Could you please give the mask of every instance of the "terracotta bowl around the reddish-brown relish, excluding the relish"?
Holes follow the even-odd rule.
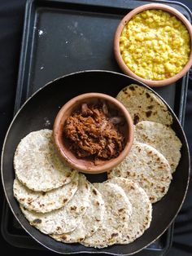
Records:
[[[97,104],[98,100],[105,101],[109,112],[110,110],[116,110],[117,116],[120,115],[121,117],[124,117],[124,126],[121,126],[120,132],[124,135],[125,146],[118,157],[106,161],[97,161],[97,165],[95,165],[93,160],[77,158],[69,149],[68,140],[63,137],[63,126],[66,119],[70,117],[74,111],[80,109],[83,103],[88,105]],[[120,161],[123,161],[124,157],[128,155],[133,143],[133,121],[127,109],[124,108],[124,105],[117,99],[100,93],[87,93],[76,96],[63,105],[55,118],[53,134],[56,148],[64,161],[67,161],[72,168],[81,170],[81,172],[98,174],[111,170],[111,168],[117,166]]]

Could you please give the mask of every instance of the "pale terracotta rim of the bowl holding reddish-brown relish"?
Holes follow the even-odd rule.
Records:
[[[110,101],[111,104],[114,104],[116,108],[119,108],[121,113],[123,113],[124,118],[126,120],[126,123],[129,127],[129,134],[128,134],[128,139],[125,143],[124,149],[122,152],[120,152],[120,155],[116,158],[112,158],[111,161],[106,161],[102,166],[85,166],[82,168],[81,166],[83,165],[77,165],[70,157],[68,157],[68,154],[63,151],[62,144],[59,142],[59,138],[61,136],[61,131],[59,131],[61,126],[61,121],[63,119],[63,116],[65,114],[65,111],[72,107],[72,105],[78,105],[81,104],[81,101],[85,99],[105,99],[106,101]],[[111,95],[106,95],[103,93],[98,93],[98,92],[90,92],[90,93],[85,93],[81,95],[77,95],[76,97],[70,99],[66,104],[63,105],[62,108],[60,108],[59,113],[57,113],[54,121],[54,126],[53,126],[53,138],[55,142],[55,146],[57,148],[57,151],[59,152],[60,157],[62,157],[65,161],[68,162],[72,168],[75,168],[76,170],[80,170],[83,173],[86,174],[99,174],[106,172],[107,170],[111,170],[118,164],[120,164],[121,161],[124,160],[124,158],[128,155],[129,150],[132,147],[133,144],[133,137],[134,137],[134,126],[133,126],[133,120],[132,117],[129,114],[129,111],[124,107],[123,104],[120,103],[119,100],[116,98],[112,97]]]

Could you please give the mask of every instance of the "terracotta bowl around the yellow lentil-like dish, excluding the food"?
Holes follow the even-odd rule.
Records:
[[[192,26],[191,26],[189,20],[187,20],[185,18],[185,16],[181,14],[180,11],[177,11],[176,9],[174,9],[172,7],[169,7],[164,4],[159,4],[159,3],[151,3],[151,4],[146,4],[141,7],[135,8],[133,11],[130,11],[128,15],[125,15],[124,19],[120,21],[120,24],[116,29],[116,34],[115,34],[115,38],[114,38],[115,57],[116,57],[117,63],[119,64],[120,68],[122,69],[122,71],[124,73],[128,74],[130,77],[136,78],[137,80],[144,82],[146,85],[151,86],[151,87],[167,86],[167,85],[172,84],[173,82],[176,82],[177,80],[179,80],[190,69],[190,66],[192,65],[192,51],[190,51],[189,61],[187,62],[187,64],[185,64],[185,67],[181,70],[181,72],[177,73],[173,77],[166,78],[164,80],[159,80],[159,81],[146,80],[142,77],[138,77],[135,73],[133,73],[133,71],[131,71],[129,69],[129,67],[127,67],[126,64],[124,64],[124,60],[122,59],[122,57],[120,55],[120,35],[122,33],[122,30],[124,29],[124,25],[127,24],[129,22],[129,20],[131,20],[133,18],[133,16],[136,15],[137,13],[145,11],[145,10],[149,10],[149,9],[160,9],[163,11],[167,11],[167,12],[171,13],[172,15],[175,15],[178,18],[178,20],[181,20],[181,22],[183,24],[185,24],[185,27],[186,27],[186,29],[188,29],[188,32],[190,34],[190,48],[192,49]]]

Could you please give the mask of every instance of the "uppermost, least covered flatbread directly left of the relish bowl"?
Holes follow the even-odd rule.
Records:
[[[70,183],[76,174],[60,160],[52,130],[37,130],[21,139],[15,151],[15,174],[33,191],[49,191]]]

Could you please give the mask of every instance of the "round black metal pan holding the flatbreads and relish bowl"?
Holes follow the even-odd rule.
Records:
[[[42,89],[38,90],[26,103],[20,108],[11,126],[7,131],[7,136],[2,149],[2,184],[7,196],[8,204],[11,207],[15,218],[19,221],[24,230],[28,232],[37,242],[60,254],[75,253],[106,253],[113,255],[129,255],[145,248],[155,241],[172,223],[181,205],[185,199],[186,190],[189,183],[190,173],[190,155],[184,131],[172,112],[173,125],[172,129],[176,131],[177,136],[181,139],[181,161],[173,174],[172,183],[168,194],[153,205],[153,218],[151,227],[136,241],[129,245],[112,245],[105,249],[86,248],[79,244],[63,244],[57,242],[39,232],[35,227],[29,225],[28,221],[20,211],[19,204],[15,200],[12,192],[15,172],[13,169],[13,157],[15,148],[20,139],[24,138],[33,130],[52,128],[55,115],[59,108],[69,99],[85,92],[103,92],[108,95],[116,94],[124,87],[131,83],[145,86],[131,77],[120,73],[107,71],[87,71],[72,73],[60,77],[54,82],[50,82]],[[147,86],[146,86],[147,87]],[[151,90],[149,87],[147,87]],[[153,91],[153,90],[152,90]],[[155,91],[153,91],[155,93]],[[155,93],[156,94],[156,93]],[[50,125],[49,125],[50,123]],[[106,174],[87,175],[91,182],[102,182],[107,179]]]

